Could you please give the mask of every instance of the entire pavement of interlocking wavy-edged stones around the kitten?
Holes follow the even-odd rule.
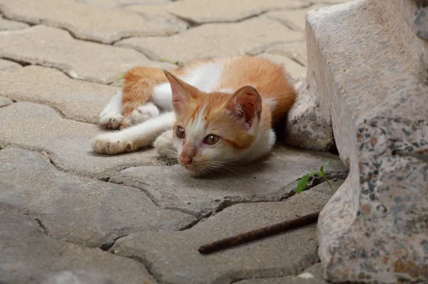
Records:
[[[133,66],[245,52],[305,76],[305,13],[333,0],[0,0],[0,283],[324,283],[316,225],[213,255],[219,238],[320,211],[339,156],[278,145],[190,178],[153,149],[91,151]]]

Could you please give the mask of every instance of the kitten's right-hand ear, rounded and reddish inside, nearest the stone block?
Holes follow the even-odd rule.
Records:
[[[250,128],[253,126],[255,118],[260,119],[262,98],[255,88],[245,86],[235,91],[228,101],[227,108],[233,116],[238,118],[239,121],[243,121],[245,126]]]

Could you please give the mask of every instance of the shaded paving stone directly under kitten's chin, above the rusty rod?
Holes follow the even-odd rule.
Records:
[[[325,161],[331,161],[327,171],[332,176],[346,177],[338,156],[278,146],[264,161],[235,168],[236,173],[228,176],[193,178],[179,165],[141,166],[115,173],[111,181],[147,191],[161,207],[204,215],[230,203],[275,201],[287,196],[298,178]]]

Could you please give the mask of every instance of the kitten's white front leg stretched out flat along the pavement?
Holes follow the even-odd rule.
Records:
[[[96,153],[109,155],[133,152],[138,148],[151,146],[161,133],[173,128],[174,123],[173,112],[163,113],[122,131],[98,135],[92,141],[92,148]]]

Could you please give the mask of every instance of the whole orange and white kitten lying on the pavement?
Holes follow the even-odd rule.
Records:
[[[198,61],[183,69],[136,67],[124,76],[100,115],[106,128],[93,139],[97,153],[154,146],[204,173],[264,156],[275,143],[272,125],[295,102],[284,68],[257,56]],[[128,127],[131,126],[131,127]]]

